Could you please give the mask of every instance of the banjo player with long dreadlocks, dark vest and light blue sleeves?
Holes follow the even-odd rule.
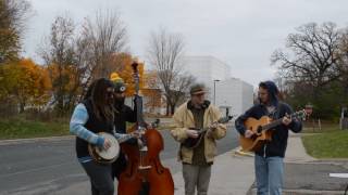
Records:
[[[76,135],[77,158],[89,177],[91,194],[113,195],[111,165],[95,161],[88,153],[88,144],[96,144],[104,150],[111,146],[110,141],[98,135],[98,132],[109,132],[116,139],[125,136],[114,129],[114,84],[108,79],[98,79],[88,89],[87,95],[74,109],[70,131]]]

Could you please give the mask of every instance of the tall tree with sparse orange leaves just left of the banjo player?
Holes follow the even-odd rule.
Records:
[[[51,26],[47,46],[40,49],[40,55],[49,69],[52,82],[52,104],[59,115],[70,112],[74,105],[77,87],[70,86],[76,77],[75,25],[69,17],[58,16]],[[72,77],[73,76],[73,77]],[[75,83],[76,86],[78,84]],[[73,90],[73,92],[71,91]]]

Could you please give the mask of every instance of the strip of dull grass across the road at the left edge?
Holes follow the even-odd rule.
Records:
[[[21,117],[0,120],[0,140],[67,135],[69,122],[42,122]]]

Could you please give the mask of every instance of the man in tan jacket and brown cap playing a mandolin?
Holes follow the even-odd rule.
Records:
[[[203,134],[204,138],[197,147],[188,148],[181,144],[178,159],[183,162],[186,195],[194,195],[196,188],[198,195],[208,194],[211,166],[216,155],[215,140],[226,135],[224,125],[211,125],[220,118],[219,109],[206,100],[206,87],[199,83],[190,88],[190,100],[174,113],[175,128],[171,134],[181,143],[187,138],[198,138],[197,130],[189,128],[201,129],[211,126],[211,131]]]

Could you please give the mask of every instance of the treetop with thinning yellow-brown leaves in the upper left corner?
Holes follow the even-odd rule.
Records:
[[[0,0],[0,63],[18,58],[25,22],[32,13],[26,0]]]

